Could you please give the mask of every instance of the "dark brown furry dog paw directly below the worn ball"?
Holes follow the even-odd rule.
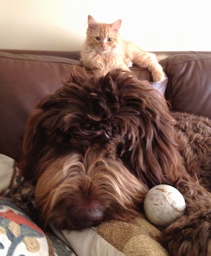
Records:
[[[171,256],[211,255],[210,216],[183,216],[161,232],[161,244]]]

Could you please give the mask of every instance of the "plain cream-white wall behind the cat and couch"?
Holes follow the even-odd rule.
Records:
[[[0,0],[0,49],[80,50],[88,14],[144,50],[211,51],[209,1]]]

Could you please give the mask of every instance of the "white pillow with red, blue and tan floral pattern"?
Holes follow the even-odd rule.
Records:
[[[49,255],[43,231],[8,198],[0,198],[0,224],[1,255]]]

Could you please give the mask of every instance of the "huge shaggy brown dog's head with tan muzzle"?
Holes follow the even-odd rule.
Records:
[[[151,186],[178,179],[173,122],[146,81],[73,67],[29,119],[19,162],[43,222],[80,229],[136,216]]]

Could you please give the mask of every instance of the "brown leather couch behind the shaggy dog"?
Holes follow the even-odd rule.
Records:
[[[211,119],[211,51],[165,54],[168,58],[160,64],[167,79],[155,86],[170,109]],[[20,158],[26,120],[35,103],[69,79],[70,67],[79,64],[78,59],[79,52],[0,51],[0,154]],[[145,68],[131,70],[138,79],[152,81]]]

